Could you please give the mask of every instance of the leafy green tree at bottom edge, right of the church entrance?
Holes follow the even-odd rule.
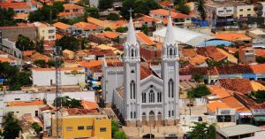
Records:
[[[207,122],[194,122],[191,131],[187,132],[188,137],[192,139],[216,139],[216,127]]]

